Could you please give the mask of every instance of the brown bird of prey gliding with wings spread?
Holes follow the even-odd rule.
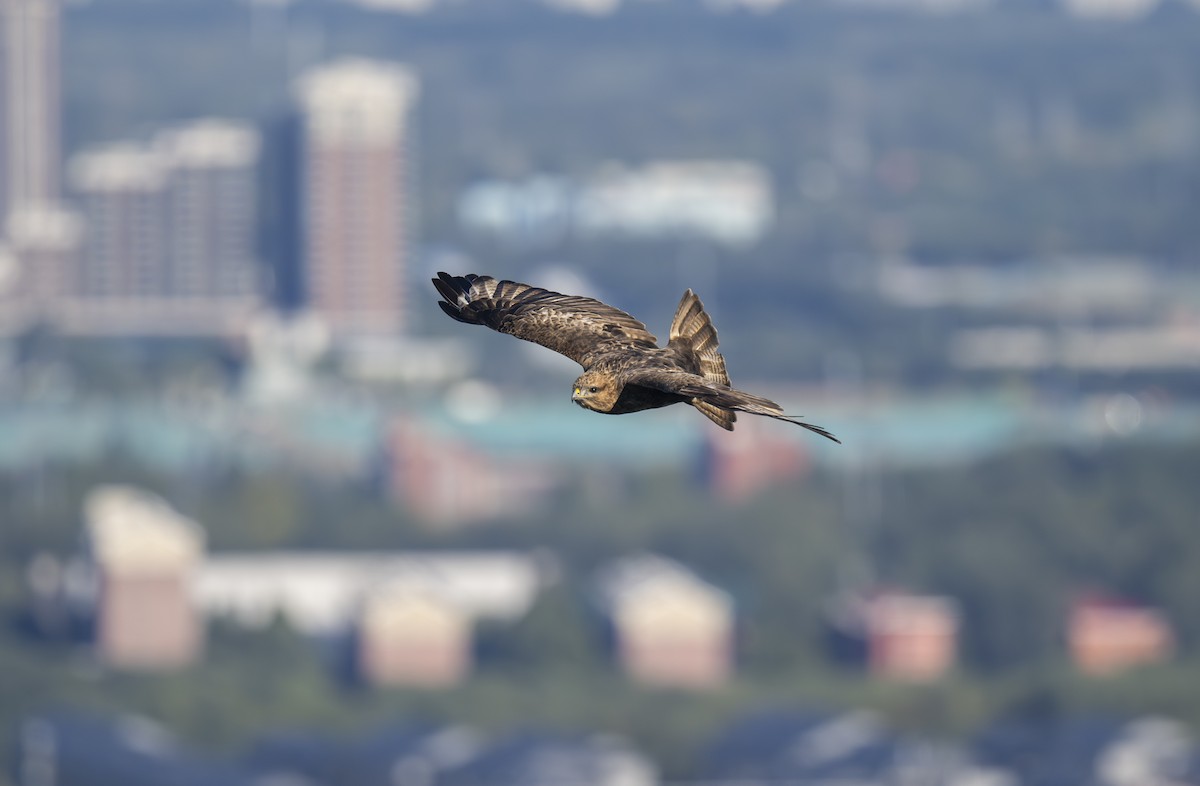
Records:
[[[671,320],[667,346],[659,347],[641,322],[592,298],[474,274],[439,272],[433,286],[444,298],[438,305],[451,318],[532,341],[583,366],[571,401],[586,409],[623,415],[685,403],[726,431],[733,431],[737,413],[745,412],[841,444],[821,426],[784,414],[774,401],[730,386],[716,329],[691,289]]]

